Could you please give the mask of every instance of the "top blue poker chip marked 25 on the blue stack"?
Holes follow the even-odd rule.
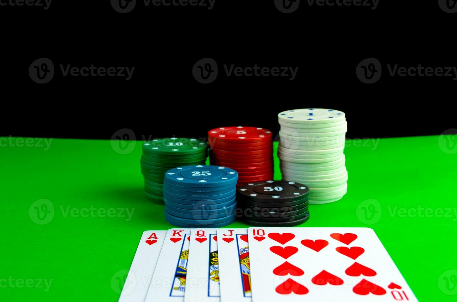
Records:
[[[222,166],[192,165],[168,170],[165,179],[187,187],[217,187],[236,183],[238,172]]]

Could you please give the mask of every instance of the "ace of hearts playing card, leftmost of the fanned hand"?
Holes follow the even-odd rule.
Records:
[[[145,231],[128,271],[119,302],[143,301],[167,231]]]

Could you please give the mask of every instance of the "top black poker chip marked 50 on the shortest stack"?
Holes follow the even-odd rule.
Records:
[[[302,200],[308,196],[309,188],[302,183],[268,180],[247,183],[237,193],[250,201],[282,203]]]

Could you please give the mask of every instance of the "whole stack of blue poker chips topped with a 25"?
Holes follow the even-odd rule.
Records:
[[[168,170],[164,178],[165,220],[177,227],[225,227],[235,221],[238,172],[192,165]]]

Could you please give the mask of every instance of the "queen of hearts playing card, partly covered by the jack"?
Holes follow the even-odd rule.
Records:
[[[191,229],[185,302],[219,301],[216,229]]]

